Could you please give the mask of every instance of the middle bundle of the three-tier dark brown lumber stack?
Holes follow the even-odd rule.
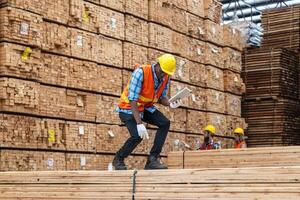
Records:
[[[289,49],[246,50],[243,67],[247,100],[271,96],[298,99],[297,53]]]

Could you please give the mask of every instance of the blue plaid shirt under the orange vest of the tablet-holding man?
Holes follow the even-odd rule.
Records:
[[[159,80],[157,78],[156,73],[154,71],[154,65],[152,65],[151,68],[152,68],[152,73],[154,75],[155,93],[157,93],[157,90],[163,81]],[[164,77],[164,78],[166,78],[166,77]],[[131,75],[131,80],[130,80],[129,89],[128,89],[129,101],[137,101],[139,99],[139,95],[142,90],[143,79],[144,79],[143,69],[141,67],[139,67]],[[160,99],[165,98],[167,96],[167,91],[169,89],[169,85],[170,85],[170,78],[162,92]],[[153,113],[156,110],[156,107],[153,105],[153,106],[151,106],[149,108],[145,108],[145,109],[148,110],[149,112]],[[132,114],[131,110],[126,110],[126,109],[121,109],[121,108],[117,108],[117,112]]]

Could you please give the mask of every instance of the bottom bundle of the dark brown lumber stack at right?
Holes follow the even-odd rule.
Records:
[[[263,99],[243,103],[250,146],[298,145],[300,103],[291,99]]]

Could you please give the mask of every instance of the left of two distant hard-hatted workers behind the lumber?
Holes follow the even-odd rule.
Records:
[[[216,128],[213,125],[207,125],[204,128],[204,141],[200,146],[200,150],[219,149],[219,144],[214,143],[213,137],[216,134]]]

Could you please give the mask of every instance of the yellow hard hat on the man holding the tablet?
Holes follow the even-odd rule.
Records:
[[[176,71],[176,59],[171,54],[163,54],[157,59],[161,70],[172,76]]]

